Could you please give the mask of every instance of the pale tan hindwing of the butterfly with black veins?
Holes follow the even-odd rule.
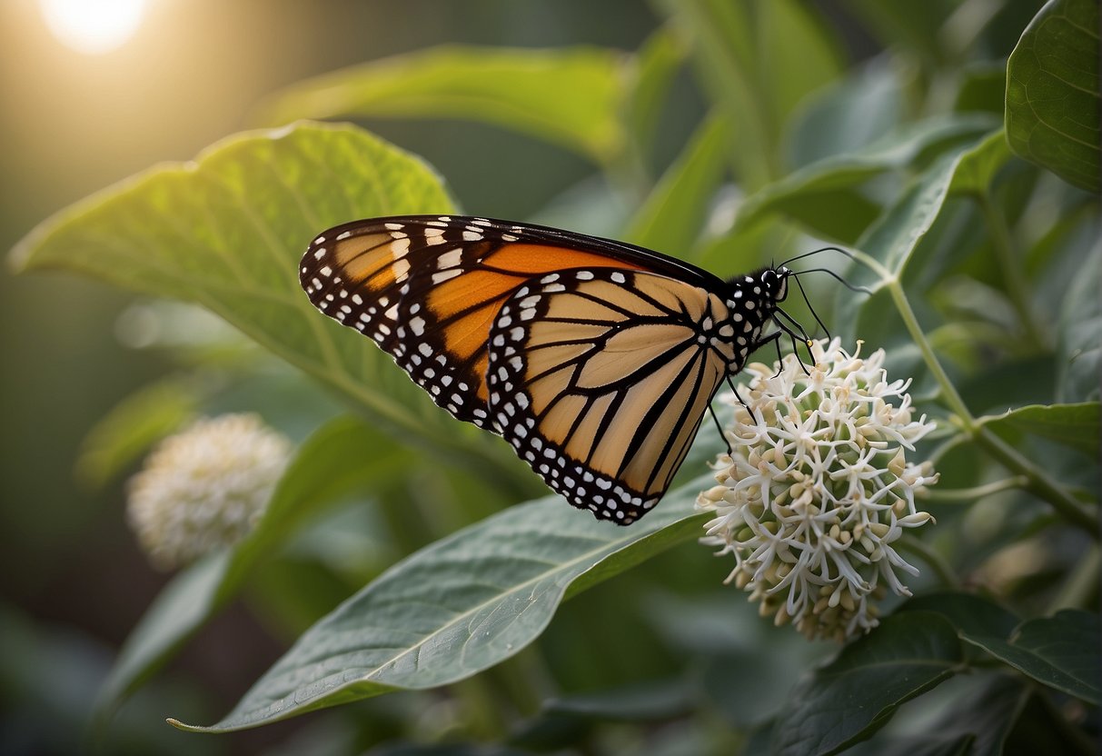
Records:
[[[627,525],[666,493],[727,370],[714,294],[647,271],[549,273],[490,330],[489,410],[573,506]]]

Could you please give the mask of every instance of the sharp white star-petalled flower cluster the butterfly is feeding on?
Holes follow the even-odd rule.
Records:
[[[748,407],[727,398],[732,452],[696,499],[714,514],[701,542],[735,558],[726,582],[808,638],[867,631],[886,588],[910,595],[897,571],[918,570],[892,544],[933,519],[915,497],[938,476],[907,460],[933,423],[914,419],[909,381],[888,382],[884,350],[862,358],[860,347],[823,339],[810,345],[813,367],[792,354],[747,366]]]

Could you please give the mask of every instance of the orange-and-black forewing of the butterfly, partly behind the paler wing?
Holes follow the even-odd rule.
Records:
[[[323,313],[391,356],[460,420],[489,422],[490,326],[503,303],[541,274],[576,268],[710,273],[608,239],[461,216],[358,220],[318,236],[300,281]]]

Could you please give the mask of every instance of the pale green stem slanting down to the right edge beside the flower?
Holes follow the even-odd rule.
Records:
[[[938,386],[941,388],[942,400],[953,414],[957,415],[954,422],[960,426],[965,436],[986,451],[990,456],[997,460],[1007,471],[1024,476],[1028,482],[1025,486],[1026,490],[1048,501],[1068,522],[1082,528],[1092,538],[1099,539],[1099,521],[1091,512],[1084,509],[1058,483],[1052,480],[1044,469],[995,435],[995,433],[972,415],[964,403],[964,399],[957,391],[957,387],[953,386],[953,382],[941,366],[941,361],[933,353],[929,339],[926,338],[926,333],[922,331],[918,317],[915,315],[915,311],[911,310],[910,302],[903,291],[899,278],[884,268],[876,259],[864,252],[855,252],[854,257],[875,271],[880,277],[880,283],[892,294],[892,301],[899,312],[899,317],[903,318],[907,332],[922,354],[922,359],[927,368],[933,375],[934,380],[938,381]]]

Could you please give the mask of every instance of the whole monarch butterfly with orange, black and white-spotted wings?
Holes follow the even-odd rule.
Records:
[[[324,231],[300,281],[570,504],[628,525],[666,493],[720,384],[792,335],[777,318],[791,274],[723,281],[609,239],[409,215]]]

